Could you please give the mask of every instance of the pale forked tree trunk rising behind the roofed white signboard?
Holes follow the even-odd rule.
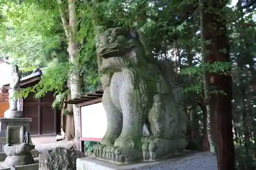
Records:
[[[63,28],[68,39],[68,53],[69,61],[72,65],[76,66],[78,62],[78,43],[77,43],[77,20],[76,20],[76,0],[68,1],[68,13],[66,15],[65,5],[61,0],[58,0],[59,12],[62,20]],[[77,68],[77,67],[75,67]],[[69,75],[71,98],[74,99],[80,93],[80,76],[78,70],[70,71]],[[77,150],[81,150],[80,144],[80,125],[79,125],[79,108],[73,105],[74,114],[74,127],[75,127],[75,145]]]

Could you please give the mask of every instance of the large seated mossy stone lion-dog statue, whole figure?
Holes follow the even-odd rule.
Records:
[[[173,67],[152,57],[139,31],[111,28],[98,36],[96,46],[103,58],[102,104],[108,119],[96,158],[123,164],[184,150],[186,114]],[[144,124],[149,136],[142,135]]]

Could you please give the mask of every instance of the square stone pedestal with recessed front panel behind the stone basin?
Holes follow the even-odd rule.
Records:
[[[30,122],[32,118],[0,118],[0,152],[7,143],[23,143],[25,132],[30,132]],[[32,144],[31,138],[29,143]]]

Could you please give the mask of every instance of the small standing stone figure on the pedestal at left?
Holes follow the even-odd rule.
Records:
[[[9,86],[9,110],[17,110],[17,98],[14,93],[20,88],[20,74],[17,65],[12,66],[11,82]]]

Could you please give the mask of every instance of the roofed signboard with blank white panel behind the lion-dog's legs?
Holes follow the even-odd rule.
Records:
[[[67,104],[76,105],[80,111],[80,141],[81,151],[84,141],[101,141],[106,131],[106,114],[101,100],[103,90],[99,89],[77,98],[65,101]]]

